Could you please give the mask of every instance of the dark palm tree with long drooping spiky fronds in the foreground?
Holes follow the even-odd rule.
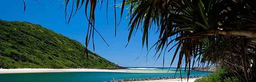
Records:
[[[86,47],[91,37],[93,40],[94,32],[99,34],[94,27],[97,2],[102,4],[103,0],[64,0],[65,13],[69,7],[67,4],[73,4],[71,14],[66,14],[67,23],[85,5],[85,15],[89,23]],[[108,0],[105,2],[108,9]],[[142,28],[142,46],[145,44],[147,50],[155,47],[157,59],[175,42],[168,51],[176,47],[171,65],[178,58],[177,69],[181,68],[183,60],[185,69],[193,68],[197,62],[220,64],[229,67],[230,72],[241,81],[256,80],[256,6],[252,0],[122,0],[120,4],[116,4],[114,0],[114,3],[115,28],[119,24],[116,7],[121,7],[122,17],[124,7],[127,6],[130,10],[128,42],[131,35]],[[90,10],[87,10],[89,5]],[[148,34],[150,28],[154,28],[152,25],[157,26],[155,28],[159,37],[149,48]],[[189,76],[190,69],[187,71]]]

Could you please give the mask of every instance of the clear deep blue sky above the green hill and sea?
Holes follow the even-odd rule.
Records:
[[[26,0],[26,12],[23,12],[22,0],[3,0],[0,3],[0,19],[6,21],[26,21],[34,24],[40,24],[43,27],[77,40],[85,44],[85,34],[88,22],[85,18],[84,6],[71,19],[69,24],[65,23],[64,6],[61,7],[63,0]],[[104,0],[106,1],[106,0]],[[129,67],[162,67],[163,55],[155,62],[154,50],[151,50],[146,62],[146,48],[142,50],[142,31],[138,30],[136,35],[131,38],[128,47],[125,48],[128,37],[128,22],[125,10],[122,21],[117,27],[117,36],[114,37],[114,0],[109,0],[108,22],[106,19],[106,3],[97,4],[95,11],[95,26],[96,29],[103,35],[105,40],[110,45],[109,47],[101,40],[98,35],[95,35],[94,42],[96,44],[95,53],[99,54],[107,60],[110,60],[120,66]],[[117,0],[117,3],[122,1]],[[70,5],[70,4],[69,4]],[[59,8],[60,7],[60,8]],[[71,10],[71,6],[68,7]],[[70,12],[68,12],[69,14]],[[117,19],[120,19],[120,8],[117,9]],[[153,45],[157,41],[158,34],[154,34],[155,30],[151,29],[149,34],[149,45]],[[90,45],[90,44],[89,44]],[[92,46],[89,50],[93,51]],[[142,53],[140,55],[140,53]],[[165,53],[165,67],[169,67],[174,50]],[[135,60],[137,57],[139,59]],[[172,67],[177,66],[177,59]]]

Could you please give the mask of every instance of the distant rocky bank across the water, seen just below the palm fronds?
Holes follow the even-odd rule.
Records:
[[[217,67],[194,67],[193,70],[202,72],[216,72]]]

